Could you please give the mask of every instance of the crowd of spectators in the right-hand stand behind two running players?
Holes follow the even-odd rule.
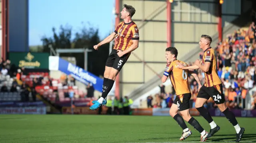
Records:
[[[223,93],[229,108],[245,108],[245,98],[248,90],[256,83],[256,25],[254,22],[249,28],[238,29],[233,34],[227,35],[215,47],[218,62],[218,76],[222,80]],[[202,60],[203,51],[199,53]],[[194,63],[189,63],[193,65]],[[195,70],[204,84],[204,72]],[[198,84],[193,76],[189,76],[192,97],[190,107],[195,107],[198,94]],[[164,92],[164,85],[160,85],[160,93],[148,96],[148,108],[170,108],[175,99],[175,92]],[[256,93],[251,97],[251,109],[255,109]],[[206,108],[216,108],[216,104],[210,98],[205,104]]]

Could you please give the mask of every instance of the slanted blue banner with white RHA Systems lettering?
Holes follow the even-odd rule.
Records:
[[[76,80],[88,85],[92,83],[95,90],[102,92],[103,79],[98,76],[84,71],[84,69],[69,63],[68,61],[59,58],[59,71],[64,72],[67,75],[73,76]]]

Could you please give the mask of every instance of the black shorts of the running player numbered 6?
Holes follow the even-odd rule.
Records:
[[[176,96],[176,98],[173,101],[173,104],[176,104],[178,106],[179,111],[187,110],[189,109],[189,100],[191,98],[191,93],[185,93]]]

